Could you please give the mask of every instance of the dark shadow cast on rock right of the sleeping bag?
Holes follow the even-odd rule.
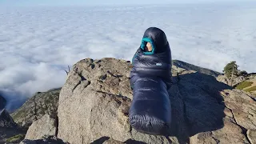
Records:
[[[174,77],[170,88],[172,124],[170,136],[179,143],[189,142],[194,134],[221,129],[225,117],[220,91],[232,89],[210,75],[193,73]]]

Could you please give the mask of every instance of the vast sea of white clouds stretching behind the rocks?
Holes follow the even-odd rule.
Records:
[[[23,101],[62,86],[82,58],[130,60],[146,28],[166,32],[173,58],[255,72],[256,6],[37,7],[0,10],[0,91]]]

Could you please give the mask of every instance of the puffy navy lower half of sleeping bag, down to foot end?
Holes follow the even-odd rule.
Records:
[[[130,125],[144,134],[166,135],[170,128],[171,106],[161,78],[139,78],[134,83]]]

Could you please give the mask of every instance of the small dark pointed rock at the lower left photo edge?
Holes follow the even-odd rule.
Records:
[[[5,109],[0,111],[0,128],[1,127],[16,127],[14,119],[10,117],[10,114]]]

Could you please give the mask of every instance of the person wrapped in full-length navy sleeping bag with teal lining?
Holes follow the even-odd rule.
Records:
[[[132,66],[130,125],[144,134],[168,134],[171,106],[167,90],[171,84],[171,51],[162,30],[150,27],[145,31]]]

